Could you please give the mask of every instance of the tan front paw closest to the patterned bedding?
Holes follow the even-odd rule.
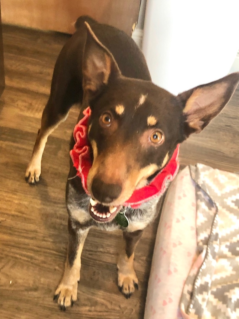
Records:
[[[118,286],[120,292],[128,299],[131,297],[135,288],[138,290],[138,278],[134,271],[129,272],[128,274],[121,273],[118,271]]]

